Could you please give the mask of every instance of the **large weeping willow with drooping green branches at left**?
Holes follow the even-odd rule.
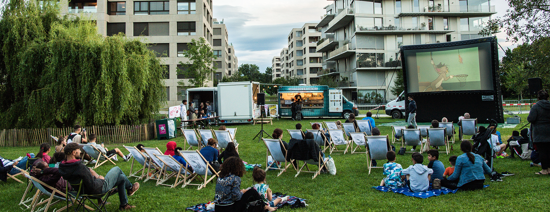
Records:
[[[1,128],[149,121],[164,98],[163,65],[139,40],[103,37],[56,2],[7,2],[0,20]]]

